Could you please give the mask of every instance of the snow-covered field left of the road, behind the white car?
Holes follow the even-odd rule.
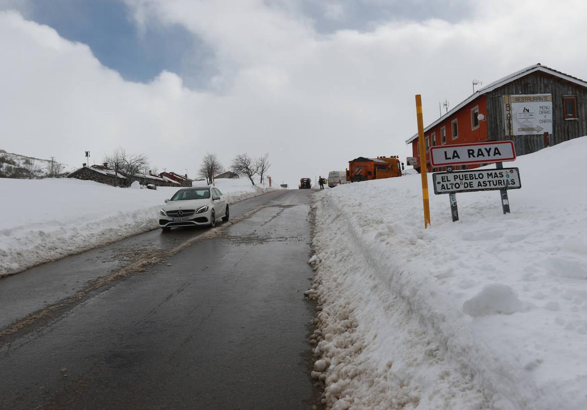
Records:
[[[228,203],[267,190],[248,179],[218,179],[216,186]],[[0,276],[157,228],[157,211],[177,189],[0,178]]]

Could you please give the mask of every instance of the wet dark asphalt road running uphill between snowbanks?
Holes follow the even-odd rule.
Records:
[[[0,408],[310,408],[309,192],[242,201],[231,217],[259,206],[0,342]],[[2,279],[0,329],[205,232],[153,231]]]

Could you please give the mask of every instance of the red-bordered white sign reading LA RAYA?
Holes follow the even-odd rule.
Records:
[[[512,141],[440,145],[430,148],[432,166],[468,165],[515,160]]]

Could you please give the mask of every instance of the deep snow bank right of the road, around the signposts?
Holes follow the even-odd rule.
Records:
[[[329,406],[587,408],[587,137],[506,163],[522,189],[448,195],[420,175],[315,194],[321,312],[314,378]],[[491,168],[491,167],[490,167]]]

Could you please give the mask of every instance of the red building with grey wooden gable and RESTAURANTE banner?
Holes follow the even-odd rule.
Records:
[[[481,88],[424,128],[427,168],[444,170],[431,168],[430,146],[511,140],[517,155],[524,155],[582,135],[587,135],[587,83],[535,64]],[[419,164],[418,134],[406,143]],[[419,171],[420,165],[414,168]]]

